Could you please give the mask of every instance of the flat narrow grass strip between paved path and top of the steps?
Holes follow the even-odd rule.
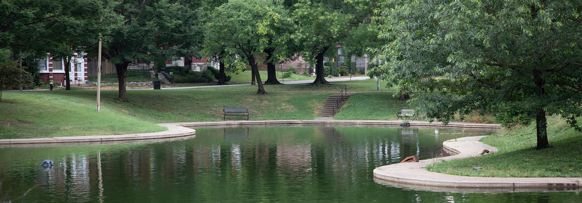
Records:
[[[314,78],[312,78],[314,79]],[[343,85],[347,86],[349,92],[377,92],[376,79],[363,79],[354,81],[338,81],[329,82],[327,85],[310,85],[310,84],[295,84],[295,85],[264,85],[267,92],[269,91],[304,91],[304,92],[338,92]],[[247,90],[256,91],[257,85],[244,86],[221,86],[215,88],[204,88],[205,90]],[[386,82],[380,82],[380,91],[395,91],[395,88],[386,87]]]

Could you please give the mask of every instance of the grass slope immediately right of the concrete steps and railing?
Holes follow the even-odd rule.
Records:
[[[392,92],[354,93],[346,100],[333,119],[395,120],[402,109],[414,109],[409,102],[401,101]]]

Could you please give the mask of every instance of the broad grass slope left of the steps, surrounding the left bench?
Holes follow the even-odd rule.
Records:
[[[218,92],[208,90],[128,90],[132,102],[102,91],[5,91],[0,102],[0,139],[159,132],[162,122],[221,121],[223,107],[248,107],[251,120],[314,119],[325,92]],[[246,119],[246,117],[228,117]]]

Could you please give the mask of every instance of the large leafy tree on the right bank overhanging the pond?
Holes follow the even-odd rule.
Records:
[[[538,149],[548,115],[580,129],[582,1],[391,0],[379,14],[381,78],[438,90],[414,99],[427,118],[510,106],[535,119]]]

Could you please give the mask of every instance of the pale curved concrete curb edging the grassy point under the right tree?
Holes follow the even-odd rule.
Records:
[[[546,190],[580,190],[582,177],[470,177],[429,172],[425,166],[439,160],[453,160],[478,156],[483,149],[496,152],[497,148],[488,146],[478,140],[484,136],[462,137],[443,142],[443,147],[456,153],[450,157],[391,164],[374,169],[374,177],[389,182],[414,184],[418,186],[470,187],[484,189],[526,189]]]

